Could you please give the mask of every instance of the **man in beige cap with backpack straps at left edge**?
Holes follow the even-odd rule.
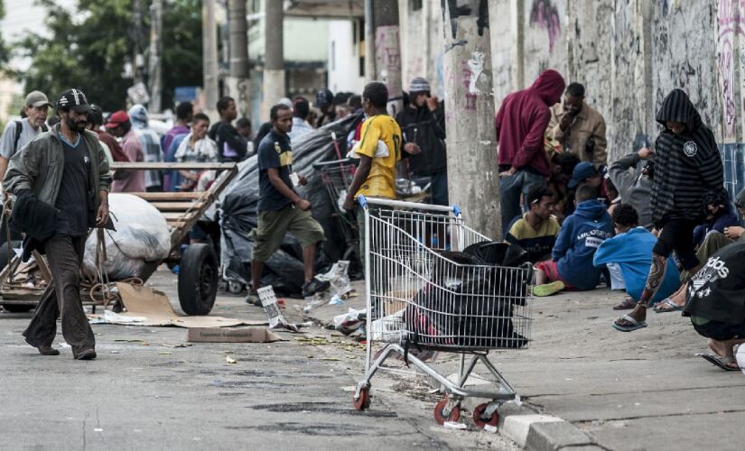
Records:
[[[5,177],[8,161],[15,152],[20,151],[37,134],[49,130],[45,123],[50,106],[49,99],[44,93],[32,91],[23,103],[22,113],[25,117],[5,125],[5,132],[0,137],[0,179]]]

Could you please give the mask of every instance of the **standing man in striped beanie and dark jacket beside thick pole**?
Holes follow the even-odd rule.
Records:
[[[431,184],[432,203],[448,205],[448,161],[445,154],[445,115],[430,84],[414,78],[409,87],[409,106],[396,115],[409,154],[409,175],[417,184]]]

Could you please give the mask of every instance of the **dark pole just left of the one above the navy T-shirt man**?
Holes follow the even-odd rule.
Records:
[[[246,0],[228,0],[228,25],[230,29],[230,75],[226,80],[228,96],[236,99],[238,117],[249,117],[251,99]]]

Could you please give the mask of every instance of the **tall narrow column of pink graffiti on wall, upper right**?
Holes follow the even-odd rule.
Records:
[[[717,67],[722,88],[723,136],[732,139],[737,133],[734,41],[740,33],[740,19],[732,0],[720,0],[717,15]]]

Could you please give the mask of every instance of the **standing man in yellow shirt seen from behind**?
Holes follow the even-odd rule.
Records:
[[[359,167],[349,187],[344,208],[354,210],[360,194],[368,198],[396,198],[396,163],[401,160],[401,127],[386,112],[388,89],[379,81],[365,86],[362,107],[368,118],[362,124],[359,142]],[[377,143],[386,144],[387,156],[377,151]],[[379,156],[376,156],[376,152]],[[385,153],[385,152],[384,152]],[[365,254],[365,214],[357,207],[360,256]],[[364,261],[364,258],[362,259]]]

